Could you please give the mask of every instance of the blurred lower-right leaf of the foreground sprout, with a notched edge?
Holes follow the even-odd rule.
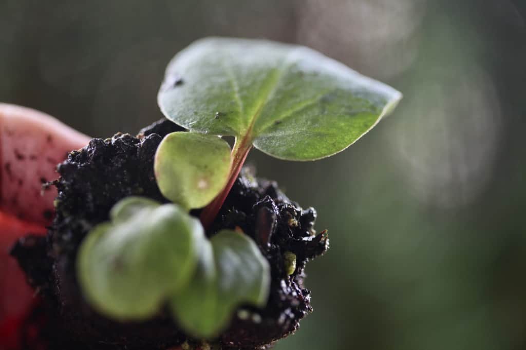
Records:
[[[219,334],[240,304],[265,306],[270,267],[247,235],[222,230],[203,250],[191,283],[171,300],[179,324],[195,337]]]

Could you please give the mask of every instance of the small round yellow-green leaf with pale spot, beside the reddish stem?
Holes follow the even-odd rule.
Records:
[[[217,136],[173,132],[155,154],[155,177],[163,195],[187,209],[201,208],[221,191],[230,170],[230,146]]]

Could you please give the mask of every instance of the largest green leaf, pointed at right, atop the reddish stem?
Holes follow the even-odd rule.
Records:
[[[158,102],[187,129],[236,136],[277,158],[315,160],[347,148],[400,98],[307,47],[205,38],[171,61]]]

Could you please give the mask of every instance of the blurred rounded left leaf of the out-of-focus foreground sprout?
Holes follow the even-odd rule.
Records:
[[[128,197],[80,246],[78,280],[98,311],[145,319],[189,283],[205,242],[200,222],[177,205]]]

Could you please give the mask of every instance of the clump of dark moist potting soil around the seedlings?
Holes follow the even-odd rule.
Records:
[[[52,227],[46,237],[19,240],[12,251],[42,299],[23,328],[26,349],[45,344],[49,350],[160,350],[184,342],[200,344],[179,330],[167,310],[137,323],[118,323],[97,314],[85,302],[75,276],[80,242],[94,225],[108,220],[117,201],[143,195],[167,202],[157,187],[153,160],[161,139],[181,130],[161,120],[137,137],[118,133],[111,139],[93,139],[59,164]],[[264,309],[239,307],[230,327],[211,343],[224,349],[267,348],[297,330],[312,311],[310,293],[303,287],[305,264],[328,249],[327,234],[313,230],[315,220],[314,209],[302,210],[275,182],[255,178],[247,170],[241,173],[207,234],[238,228],[250,235],[270,263],[271,291]],[[297,256],[290,276],[284,265],[288,251]]]

